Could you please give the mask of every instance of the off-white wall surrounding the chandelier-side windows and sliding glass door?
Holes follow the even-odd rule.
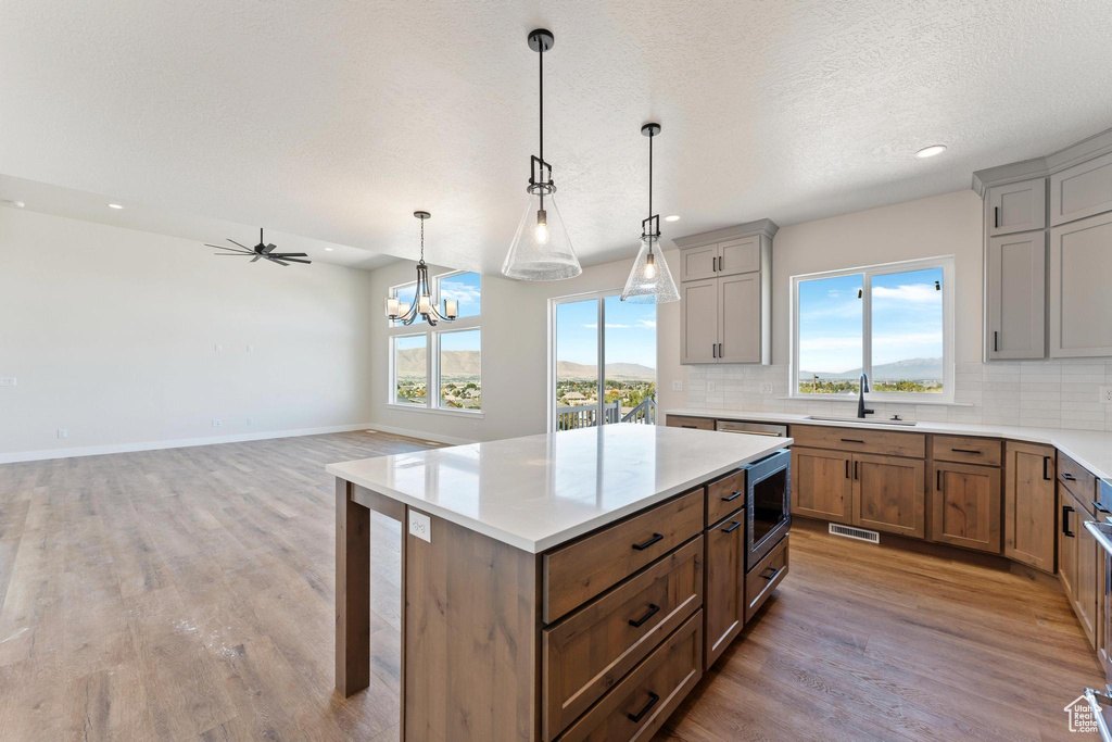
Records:
[[[665,254],[675,270],[678,254]],[[414,278],[414,264],[396,263],[371,274],[377,299],[373,327],[375,353],[371,373],[373,423],[379,429],[409,432],[436,439],[494,441],[544,433],[548,415],[548,299],[575,294],[620,289],[633,255],[585,268],[577,278],[553,283],[507,280],[483,276],[483,416],[429,413],[390,406],[387,323],[381,301],[391,286]],[[447,268],[430,267],[430,274]],[[657,307],[657,385],[663,404],[685,404],[673,396],[672,379],[683,378],[679,367],[679,305]]]

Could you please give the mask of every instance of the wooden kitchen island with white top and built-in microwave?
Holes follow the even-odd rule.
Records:
[[[746,574],[741,525],[743,467],[790,444],[620,424],[329,465],[337,690],[369,683],[374,509],[403,523],[401,739],[647,740],[706,622],[717,656],[747,576],[787,573],[785,535]]]

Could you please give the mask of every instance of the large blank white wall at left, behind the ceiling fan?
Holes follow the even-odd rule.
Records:
[[[370,275],[212,253],[0,209],[0,456],[369,422]]]

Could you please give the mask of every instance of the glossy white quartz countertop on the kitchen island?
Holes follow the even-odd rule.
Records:
[[[326,469],[535,554],[791,443],[616,424],[361,458]]]

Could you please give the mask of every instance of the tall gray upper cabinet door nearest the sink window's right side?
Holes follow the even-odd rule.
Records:
[[[990,238],[985,270],[989,358],[1044,358],[1046,233]]]

